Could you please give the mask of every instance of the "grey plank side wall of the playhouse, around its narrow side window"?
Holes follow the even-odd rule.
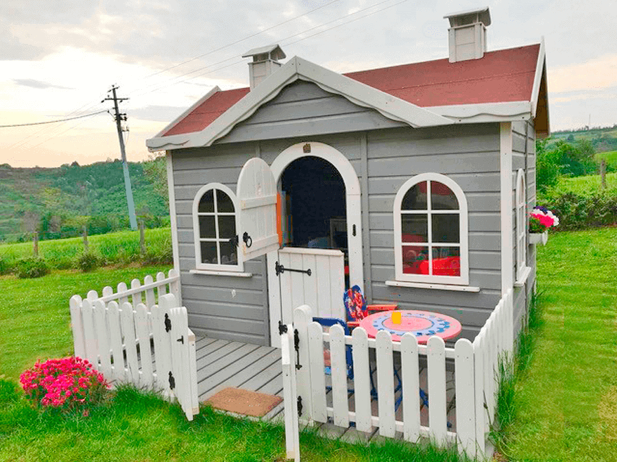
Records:
[[[535,206],[535,129],[531,121],[516,121],[512,123],[512,178],[513,178],[513,197],[515,197],[516,207],[516,176],[518,169],[523,169],[525,173],[525,186],[527,187],[527,212]],[[513,210],[513,223],[516,223],[516,210]],[[529,228],[529,218],[525,224]],[[516,228],[516,226],[515,226]],[[514,236],[514,274],[516,275],[516,255],[518,245],[516,239],[516,229],[513,230]],[[529,313],[529,303],[535,287],[535,245],[528,245],[527,266],[531,267],[531,273],[523,287],[514,289],[514,332],[518,334],[520,328],[527,319]]]

